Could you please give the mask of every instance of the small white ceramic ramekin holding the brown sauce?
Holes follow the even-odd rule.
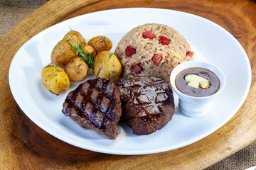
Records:
[[[184,69],[193,67],[208,69],[216,74],[220,80],[220,88],[215,94],[205,97],[193,97],[183,94],[177,89],[175,83],[177,75]],[[178,95],[178,108],[180,111],[190,117],[201,117],[210,111],[210,106],[213,103],[213,100],[220,94],[221,91],[223,91],[225,86],[225,75],[218,67],[214,66],[213,64],[207,62],[189,61],[178,64],[178,66],[173,69],[171,72],[170,81],[172,89]]]

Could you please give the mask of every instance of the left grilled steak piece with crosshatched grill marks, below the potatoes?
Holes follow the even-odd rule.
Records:
[[[119,91],[110,79],[90,79],[70,91],[62,112],[82,128],[99,135],[117,137],[117,123],[122,113]]]

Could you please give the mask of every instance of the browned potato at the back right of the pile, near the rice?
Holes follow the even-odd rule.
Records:
[[[87,42],[87,45],[92,45],[95,48],[96,52],[109,51],[112,48],[112,41],[110,38],[99,35]]]

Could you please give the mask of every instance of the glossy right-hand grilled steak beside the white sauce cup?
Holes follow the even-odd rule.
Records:
[[[117,81],[122,117],[136,135],[149,135],[164,128],[174,115],[171,87],[155,77],[134,77]]]

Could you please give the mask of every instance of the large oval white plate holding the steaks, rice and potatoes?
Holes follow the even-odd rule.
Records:
[[[191,43],[196,60],[213,63],[223,70],[227,79],[225,89],[207,116],[188,118],[176,110],[171,122],[151,135],[133,135],[126,125],[121,125],[122,137],[106,140],[83,130],[61,113],[68,92],[55,96],[41,83],[41,70],[50,63],[50,52],[70,30],[69,26],[87,40],[106,35],[113,42],[114,52],[125,33],[144,23],[164,23],[178,30]],[[14,56],[9,70],[11,92],[18,106],[36,125],[71,145],[110,154],[164,152],[201,140],[235,115],[245,101],[250,82],[250,62],[245,50],[230,33],[205,18],[158,8],[100,11],[58,23],[28,40]],[[69,91],[80,83],[72,84]]]

